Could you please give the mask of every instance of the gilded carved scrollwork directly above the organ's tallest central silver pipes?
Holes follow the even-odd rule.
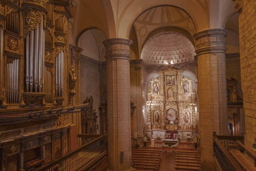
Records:
[[[37,9],[27,8],[25,12],[25,35],[37,28],[42,19],[42,12]]]

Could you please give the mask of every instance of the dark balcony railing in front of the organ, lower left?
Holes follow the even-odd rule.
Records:
[[[106,159],[106,135],[100,135],[88,143],[83,144],[73,152],[44,165],[36,170],[41,171],[75,171],[90,170]]]

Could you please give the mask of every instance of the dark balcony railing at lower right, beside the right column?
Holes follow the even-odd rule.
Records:
[[[225,137],[220,137],[221,140],[218,139],[219,136],[213,135],[213,150],[214,157],[217,159],[219,166],[223,171],[242,171],[243,169],[239,164],[234,160],[234,158],[230,155],[227,148],[225,148]],[[227,140],[229,140],[229,136],[226,136]],[[231,140],[231,139],[230,139]],[[223,144],[222,144],[223,142]],[[227,145],[226,145],[227,146]]]

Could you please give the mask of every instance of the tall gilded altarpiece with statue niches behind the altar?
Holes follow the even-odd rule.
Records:
[[[151,78],[147,86],[147,135],[165,139],[172,131],[180,139],[197,135],[196,80],[169,67]]]

